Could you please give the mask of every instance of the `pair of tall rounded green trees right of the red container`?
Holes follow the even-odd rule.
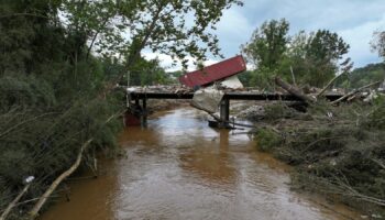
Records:
[[[338,72],[352,68],[350,58],[338,64],[349,45],[337,33],[300,31],[289,36],[288,31],[286,20],[272,20],[256,29],[250,42],[242,46],[248,61],[256,67],[250,73],[254,78],[252,86],[270,88],[266,79],[274,75],[293,81],[293,69],[297,84],[323,87]]]

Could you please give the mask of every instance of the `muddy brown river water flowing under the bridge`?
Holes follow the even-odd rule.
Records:
[[[97,179],[73,182],[70,201],[41,219],[358,219],[292,191],[289,167],[239,132],[208,128],[187,107],[153,116],[122,133],[124,158],[101,161]]]

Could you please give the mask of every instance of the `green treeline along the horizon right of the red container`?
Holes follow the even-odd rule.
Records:
[[[289,28],[285,19],[266,21],[241,46],[253,67],[240,75],[245,86],[272,91],[272,78],[279,76],[290,84],[322,88],[342,74],[333,86],[351,90],[384,79],[383,63],[353,69],[354,63],[348,57],[350,45],[337,33],[317,30],[290,35]],[[384,32],[374,33],[371,46],[384,57]]]

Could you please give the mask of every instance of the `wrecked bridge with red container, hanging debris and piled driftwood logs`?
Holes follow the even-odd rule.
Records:
[[[383,87],[376,90],[370,90],[371,87],[383,82],[375,81],[348,94],[338,91],[327,92],[328,88],[341,75],[331,79],[323,89],[298,88],[276,76],[275,84],[280,90],[261,92],[254,88],[243,88],[237,75],[245,69],[245,62],[239,55],[180,76],[180,86],[127,88],[129,109],[124,118],[125,125],[146,124],[147,99],[193,99],[193,107],[208,112],[216,120],[211,125],[229,128],[230,99],[300,101],[300,105],[305,103],[306,106],[306,103],[316,103],[321,98],[331,101],[332,105],[338,105],[341,101],[351,101],[355,98],[367,98],[365,101],[371,101],[376,96],[381,96],[378,92],[384,90]],[[142,100],[142,105],[140,100]],[[217,114],[218,110],[219,116]],[[235,125],[234,122],[231,123]]]

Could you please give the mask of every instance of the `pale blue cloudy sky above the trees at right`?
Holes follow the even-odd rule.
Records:
[[[243,0],[243,7],[224,11],[216,34],[226,57],[240,53],[240,45],[251,37],[264,21],[285,18],[290,23],[289,34],[327,29],[337,32],[350,44],[349,56],[354,67],[381,59],[370,50],[375,30],[385,30],[385,0]],[[148,58],[155,57],[147,54]],[[165,67],[170,58],[158,55]],[[210,63],[219,61],[209,57]],[[176,69],[173,67],[170,69]]]

